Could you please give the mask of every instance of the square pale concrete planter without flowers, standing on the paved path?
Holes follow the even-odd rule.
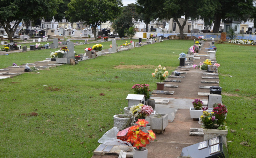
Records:
[[[168,126],[168,114],[154,114],[150,116],[150,128],[154,133],[163,133]]]

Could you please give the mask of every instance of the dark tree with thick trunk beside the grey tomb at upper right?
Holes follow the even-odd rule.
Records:
[[[216,0],[213,33],[219,33],[221,19],[244,20],[251,17],[255,7],[253,0]]]

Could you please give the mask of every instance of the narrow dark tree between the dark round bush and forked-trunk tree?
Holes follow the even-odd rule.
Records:
[[[155,4],[155,0],[137,0],[136,3],[136,12],[139,14],[142,14],[143,20],[146,24],[146,32],[147,30],[147,25],[150,23],[151,20],[157,18],[157,12],[159,12],[158,9],[161,9],[162,4],[164,0],[158,0],[157,5]],[[158,8],[157,8],[158,7]]]

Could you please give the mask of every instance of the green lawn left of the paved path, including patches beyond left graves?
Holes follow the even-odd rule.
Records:
[[[113,115],[128,105],[131,87],[156,89],[154,69],[161,64],[173,71],[191,43],[168,40],[0,80],[0,157],[91,157],[98,139],[113,128]],[[106,49],[111,42],[102,44]],[[74,50],[84,53],[92,45]],[[1,55],[0,68],[42,61],[55,50]]]

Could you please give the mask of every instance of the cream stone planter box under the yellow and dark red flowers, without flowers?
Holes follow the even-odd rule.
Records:
[[[227,146],[227,126],[225,130],[218,130],[218,129],[203,129],[203,140],[208,140],[211,138],[215,138],[221,135],[222,142]]]

